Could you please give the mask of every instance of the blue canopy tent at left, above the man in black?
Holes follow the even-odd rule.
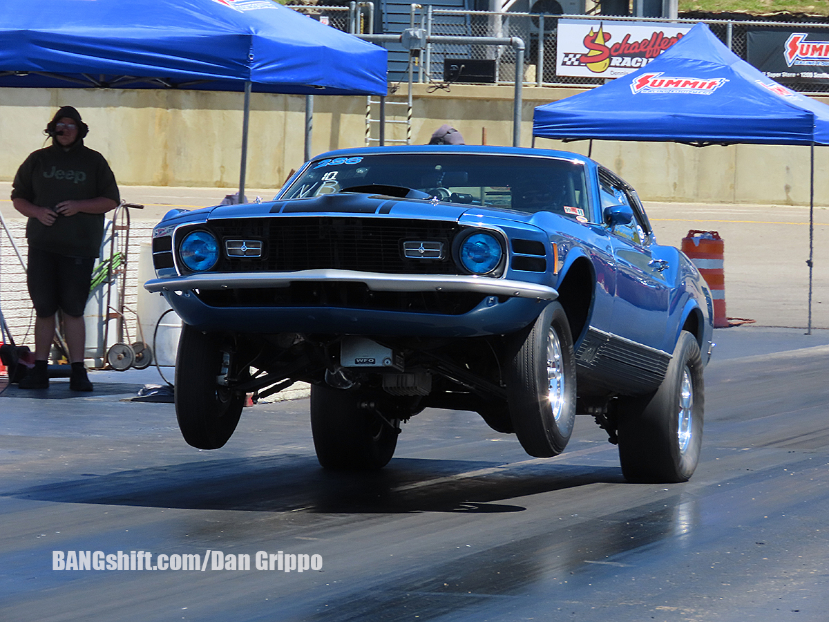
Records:
[[[0,86],[385,95],[386,51],[271,0],[0,0]]]

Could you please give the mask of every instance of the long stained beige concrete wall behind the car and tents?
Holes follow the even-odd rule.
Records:
[[[405,101],[407,85],[398,96]],[[469,144],[512,142],[511,86],[414,85],[413,143],[427,143],[440,124],[453,124]],[[521,144],[531,144],[536,105],[578,89],[524,89]],[[0,181],[45,144],[41,130],[63,104],[90,124],[87,144],[109,159],[119,183],[141,186],[238,186],[242,95],[192,90],[4,89],[0,99]],[[303,162],[305,99],[254,93],[246,187],[279,187]],[[399,112],[399,115],[394,113]],[[365,137],[365,97],[314,100],[313,153],[359,147]],[[389,108],[405,119],[405,106]],[[405,125],[387,138],[405,138]],[[536,146],[587,153],[586,142],[538,139]],[[638,189],[642,198],[676,202],[807,205],[809,148],[735,145],[694,148],[674,143],[595,141],[592,155]],[[829,203],[829,148],[816,148],[816,202]]]

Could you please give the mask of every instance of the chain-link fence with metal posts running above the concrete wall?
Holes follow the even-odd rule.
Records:
[[[371,5],[371,6],[370,6]],[[433,36],[518,36],[524,41],[524,80],[530,85],[593,87],[604,84],[604,78],[557,75],[555,70],[556,35],[559,17],[603,22],[667,22],[665,19],[642,17],[607,17],[587,15],[541,15],[521,12],[450,11],[414,5],[415,27],[424,27]],[[346,32],[371,32],[371,2],[351,2],[347,7],[292,6],[294,10],[329,23]],[[748,33],[751,28],[822,29],[829,37],[829,24],[804,22],[739,21],[679,19],[671,22],[696,24],[705,22],[711,32],[743,60],[747,59]],[[351,29],[351,30],[350,30]],[[389,33],[395,34],[395,33]],[[515,80],[515,51],[510,46],[439,45],[429,44],[420,57],[415,57],[415,79],[439,88],[448,84],[444,71],[447,59],[495,61],[496,84],[512,84]],[[807,95],[829,92],[829,84],[813,82],[787,83],[792,90]]]

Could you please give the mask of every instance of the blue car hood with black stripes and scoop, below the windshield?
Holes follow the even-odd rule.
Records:
[[[530,222],[532,214],[497,207],[471,206],[428,199],[388,197],[378,194],[337,192],[308,199],[249,203],[214,207],[208,220],[219,218],[255,218],[284,215],[368,215],[444,221],[507,220]]]

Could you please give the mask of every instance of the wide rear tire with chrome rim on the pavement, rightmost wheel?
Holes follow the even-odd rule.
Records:
[[[705,386],[700,346],[682,331],[662,385],[640,397],[619,398],[618,445],[630,482],[686,482],[702,447]]]

